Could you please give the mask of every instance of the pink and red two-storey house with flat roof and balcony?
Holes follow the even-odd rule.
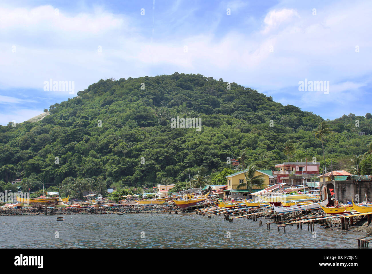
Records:
[[[311,176],[305,176],[305,174],[313,174],[312,176],[319,174],[319,165],[320,162],[313,164],[312,162],[307,162],[307,159],[305,159],[305,162],[284,162],[283,164],[275,165],[279,170],[273,171],[274,183],[284,183],[283,180],[286,180],[285,183],[298,184],[300,180],[302,184],[302,176],[298,175],[304,174],[304,179],[308,179]]]

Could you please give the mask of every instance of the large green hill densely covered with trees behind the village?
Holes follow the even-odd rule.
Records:
[[[188,180],[187,165],[191,176],[200,167],[212,175],[232,168],[227,157],[237,158],[243,149],[247,163],[262,169],[313,157],[324,164],[312,133],[320,116],[236,83],[228,89],[222,79],[177,72],[108,79],[77,95],[50,106],[50,115],[38,122],[0,126],[0,180],[43,181],[45,175],[49,186],[74,177],[151,187]],[[201,118],[201,131],[171,128],[177,116]],[[372,141],[368,114],[327,124],[333,130],[324,143],[327,164],[363,154]],[[282,152],[287,140],[296,147],[288,158]]]

